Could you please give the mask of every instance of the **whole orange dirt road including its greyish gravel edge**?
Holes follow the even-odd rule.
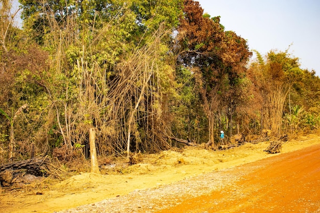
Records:
[[[320,212],[320,144],[60,212],[270,211]]]

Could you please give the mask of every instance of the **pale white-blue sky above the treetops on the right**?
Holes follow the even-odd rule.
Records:
[[[286,51],[300,67],[320,77],[319,0],[197,0],[204,13],[221,16],[226,31],[246,39],[250,50],[266,55]],[[255,56],[254,56],[255,57]]]

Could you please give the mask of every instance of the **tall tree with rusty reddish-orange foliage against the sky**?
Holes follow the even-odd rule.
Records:
[[[196,76],[209,120],[209,140],[214,141],[214,118],[223,108],[232,134],[232,117],[241,103],[241,79],[252,55],[246,41],[235,32],[224,31],[219,16],[203,15],[203,9],[193,0],[184,1],[177,40],[177,63],[192,69]]]

